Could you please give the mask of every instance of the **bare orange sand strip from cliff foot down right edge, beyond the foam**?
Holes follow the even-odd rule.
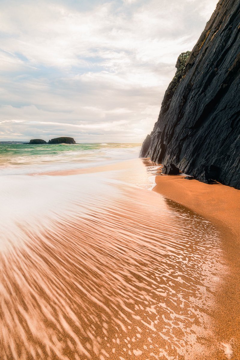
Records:
[[[155,182],[153,192],[204,216],[219,230],[227,271],[217,289],[213,318],[219,339],[226,339],[221,345],[227,358],[232,358],[232,349],[240,358],[240,191],[180,175],[157,175]]]

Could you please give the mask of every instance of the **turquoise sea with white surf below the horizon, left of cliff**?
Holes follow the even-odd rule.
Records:
[[[141,144],[24,145],[0,143],[0,175],[68,170],[137,158]]]

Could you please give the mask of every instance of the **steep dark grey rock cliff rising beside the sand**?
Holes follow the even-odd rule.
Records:
[[[182,53],[141,157],[204,183],[240,189],[240,1],[220,0],[191,53]]]

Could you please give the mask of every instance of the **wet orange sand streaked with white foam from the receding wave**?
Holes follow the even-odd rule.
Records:
[[[31,212],[2,234],[2,359],[226,359],[210,316],[214,226],[114,177],[54,177],[48,219]]]

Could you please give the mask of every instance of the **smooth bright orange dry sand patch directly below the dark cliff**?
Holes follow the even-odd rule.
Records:
[[[183,176],[160,175],[154,188],[169,199],[184,204],[220,226],[226,226],[239,238],[240,191],[222,184],[204,184]]]

